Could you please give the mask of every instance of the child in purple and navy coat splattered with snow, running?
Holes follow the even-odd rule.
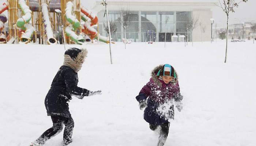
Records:
[[[144,120],[149,123],[151,130],[160,127],[158,146],[163,146],[169,133],[171,120],[174,119],[174,103],[178,111],[182,110],[178,84],[178,76],[173,66],[159,65],[151,72],[150,81],[141,89],[136,99],[140,110],[144,107]]]

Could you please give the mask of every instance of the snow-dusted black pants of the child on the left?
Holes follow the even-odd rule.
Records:
[[[45,142],[54,137],[55,135],[59,134],[62,129],[63,125],[65,125],[64,128],[64,134],[63,134],[63,143],[64,145],[68,145],[72,142],[72,132],[74,128],[74,120],[72,117],[65,118],[63,116],[51,116],[53,126],[46,130],[37,140],[36,142],[40,145],[44,145]]]

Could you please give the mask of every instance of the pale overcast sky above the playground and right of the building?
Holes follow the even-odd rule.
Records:
[[[2,4],[5,0],[0,0]],[[93,7],[96,0],[81,0],[82,4],[88,9]],[[138,0],[139,1],[139,0]],[[150,1],[150,0],[148,0]],[[237,0],[239,1],[239,0]],[[216,0],[218,2],[218,0]],[[103,7],[103,6],[102,6]],[[216,7],[213,9],[213,18],[218,27],[224,27],[226,23],[226,15],[221,8]],[[235,9],[235,13],[230,15],[230,24],[242,23],[246,21],[255,20],[256,21],[256,0],[248,0],[247,3],[240,3],[239,7]]]

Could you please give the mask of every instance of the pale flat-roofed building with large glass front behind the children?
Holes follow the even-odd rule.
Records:
[[[146,39],[147,31],[155,31],[156,41],[163,42],[165,39],[165,18],[169,17],[166,24],[166,41],[170,42],[172,35],[185,35],[187,30],[184,27],[188,19],[198,18],[203,26],[206,26],[205,33],[201,33],[199,25],[189,31],[189,41],[211,41],[212,8],[215,7],[215,0],[108,0],[109,18],[117,25],[117,32],[112,34],[115,41],[124,38],[123,27],[118,22],[121,9],[133,11],[132,23],[127,28],[126,36],[134,42],[143,42]],[[97,0],[93,10],[99,18],[99,32],[107,36],[103,24],[106,23],[105,7],[101,5],[102,0]],[[201,34],[203,36],[201,36]]]

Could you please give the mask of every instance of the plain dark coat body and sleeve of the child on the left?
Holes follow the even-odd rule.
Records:
[[[87,89],[77,87],[78,74],[69,66],[61,66],[52,81],[51,88],[45,97],[45,108],[48,116],[71,116],[68,101],[72,95],[82,99],[88,96]]]

